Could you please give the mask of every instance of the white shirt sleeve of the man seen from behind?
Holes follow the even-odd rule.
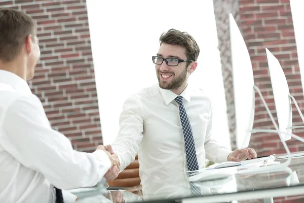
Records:
[[[51,184],[69,190],[95,186],[111,166],[102,151],[79,152],[53,130],[39,98],[16,99],[4,113],[1,145],[21,164],[42,173]],[[1,123],[1,122],[0,122]]]

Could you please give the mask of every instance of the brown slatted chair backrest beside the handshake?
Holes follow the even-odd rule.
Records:
[[[108,181],[110,187],[135,187],[140,185],[138,156],[115,180]]]

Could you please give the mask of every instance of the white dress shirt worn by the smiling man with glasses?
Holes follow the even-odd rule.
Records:
[[[205,167],[205,158],[214,162],[227,161],[231,151],[212,140],[210,98],[190,85],[180,95],[192,126],[199,167]],[[111,146],[119,156],[121,170],[138,153],[144,199],[191,193],[186,179],[179,108],[174,100],[177,96],[157,84],[127,98],[123,105],[120,131]]]

